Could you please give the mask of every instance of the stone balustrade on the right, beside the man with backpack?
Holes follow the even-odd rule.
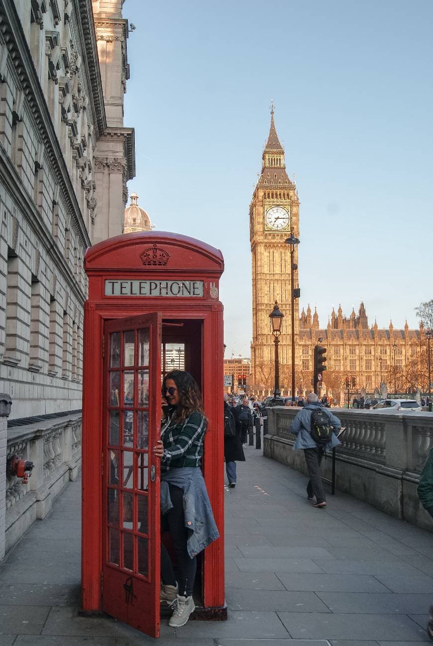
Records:
[[[299,408],[269,409],[264,454],[306,473],[302,451],[293,451],[290,424]],[[335,487],[384,512],[433,531],[432,518],[419,503],[417,485],[433,446],[431,413],[375,413],[333,408],[346,430],[335,452]],[[328,452],[328,455],[330,453]],[[332,460],[322,463],[330,479]]]

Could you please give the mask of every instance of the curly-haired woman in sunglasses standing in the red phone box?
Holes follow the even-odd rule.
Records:
[[[161,543],[160,601],[171,604],[169,626],[178,628],[195,610],[196,555],[219,534],[200,468],[207,426],[200,390],[188,372],[171,370],[162,382],[162,395],[168,406],[153,452],[161,460],[162,530],[173,541],[179,576]]]

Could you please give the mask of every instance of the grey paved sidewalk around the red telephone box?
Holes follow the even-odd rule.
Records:
[[[326,510],[306,478],[246,449],[226,488],[225,622],[153,640],[78,616],[80,483],[70,483],[0,567],[0,646],[416,646],[433,601],[433,535],[344,494]],[[302,640],[302,641],[301,641]],[[308,641],[306,641],[308,640]]]

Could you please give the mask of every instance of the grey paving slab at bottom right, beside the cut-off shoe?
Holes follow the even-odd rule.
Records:
[[[405,615],[279,612],[280,620],[295,639],[422,641],[425,630]]]

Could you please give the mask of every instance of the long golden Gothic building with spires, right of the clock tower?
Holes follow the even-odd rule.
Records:
[[[403,329],[394,328],[392,322],[385,329],[376,322],[370,327],[361,302],[358,313],[352,309],[348,317],[341,306],[337,313],[332,309],[326,328],[321,328],[317,309],[313,315],[310,306],[302,309],[297,340],[301,366],[296,384],[300,390],[310,390],[317,343],[326,348],[324,388],[334,395],[344,388],[346,377],[354,391],[365,388],[372,393],[382,381],[390,393],[428,391],[427,339],[422,324],[419,329],[409,329],[407,322]]]

